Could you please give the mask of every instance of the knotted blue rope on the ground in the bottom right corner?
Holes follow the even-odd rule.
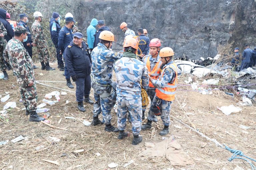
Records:
[[[250,157],[248,157],[248,156],[245,156],[245,155],[243,154],[243,152],[240,151],[240,150],[231,149],[231,148],[229,148],[229,147],[226,146],[226,145],[224,145],[224,146],[225,146],[225,147],[223,147],[224,149],[226,149],[226,150],[230,151],[231,153],[233,153],[233,155],[232,155],[230,158],[228,158],[228,161],[231,162],[231,161],[234,160],[234,159],[243,159],[243,160],[245,160],[246,162],[248,162],[248,163],[251,165],[252,170],[256,170],[256,167],[255,167],[254,164],[250,161],[250,160],[252,160],[252,161],[255,161],[255,162],[256,162],[255,159],[250,158]],[[239,156],[241,156],[241,157],[239,157]],[[246,159],[246,158],[247,158],[247,159]]]

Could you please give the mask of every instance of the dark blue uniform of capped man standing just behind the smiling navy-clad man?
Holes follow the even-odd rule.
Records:
[[[62,59],[64,63],[65,63],[65,53],[63,52],[66,49],[66,47],[69,45],[69,43],[73,41],[73,36],[74,36],[74,33],[72,29],[69,29],[66,26],[64,26],[59,32],[58,47],[60,48],[60,51],[63,54]],[[66,66],[65,66],[64,73],[65,73],[66,79],[70,79],[70,74]]]

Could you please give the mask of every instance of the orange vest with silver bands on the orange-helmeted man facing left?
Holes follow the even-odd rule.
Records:
[[[161,76],[159,77],[159,80],[164,76],[164,71],[166,68],[171,68],[174,70],[176,76],[174,79],[174,82],[171,84],[170,82],[164,87],[164,88],[157,88],[156,89],[156,96],[160,99],[166,100],[166,101],[173,101],[175,99],[175,92],[177,88],[177,65],[175,63],[172,63],[168,66],[166,66],[161,73]]]

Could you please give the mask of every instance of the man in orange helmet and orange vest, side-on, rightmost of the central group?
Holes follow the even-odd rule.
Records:
[[[174,52],[170,47],[164,47],[159,52],[163,69],[161,71],[159,80],[155,80],[151,77],[149,78],[153,86],[155,86],[157,89],[150,106],[148,122],[141,127],[141,129],[150,129],[155,116],[161,116],[164,129],[160,131],[160,135],[166,135],[169,133],[169,114],[171,111],[172,101],[175,99],[177,87],[178,69],[177,65],[172,61],[173,55]]]

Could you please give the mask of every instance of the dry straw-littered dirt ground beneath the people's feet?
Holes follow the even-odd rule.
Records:
[[[39,65],[37,63],[37,65]],[[57,67],[56,64],[52,65]],[[43,73],[43,75],[39,75]],[[145,149],[145,142],[157,143],[162,141],[159,131],[163,128],[160,118],[157,123],[153,123],[156,132],[151,139],[152,130],[141,131],[143,141],[138,146],[133,146],[131,124],[127,124],[130,136],[123,140],[117,139],[118,133],[104,131],[105,125],[89,126],[83,125],[83,119],[92,120],[93,105],[85,104],[86,112],[82,113],[76,108],[75,94],[67,92],[65,96],[60,96],[60,102],[53,106],[47,105],[50,109],[51,125],[67,130],[51,128],[42,123],[31,123],[22,111],[23,105],[19,102],[19,89],[16,78],[8,71],[9,80],[0,80],[0,95],[5,96],[5,92],[10,92],[10,99],[17,103],[19,109],[9,110],[7,116],[0,119],[0,141],[9,140],[6,145],[0,145],[0,169],[17,170],[57,170],[57,169],[87,169],[106,170],[108,164],[114,162],[117,168],[112,169],[187,169],[187,170],[229,170],[229,169],[250,169],[249,164],[240,162],[228,162],[231,153],[225,149],[217,147],[213,142],[203,138],[196,132],[180,124],[175,119],[171,119],[170,133],[165,137],[175,135],[182,146],[184,155],[191,158],[194,163],[186,166],[172,166],[165,157],[140,157],[140,152]],[[35,69],[36,80],[65,81],[63,72],[59,70],[45,71]],[[184,77],[180,77],[179,83],[184,84]],[[45,83],[58,88],[69,89],[66,83]],[[75,85],[75,83],[73,83]],[[15,87],[12,87],[15,85]],[[190,89],[179,86],[179,90]],[[51,87],[37,84],[38,104],[42,103],[45,94],[55,91]],[[190,89],[191,90],[191,89]],[[62,90],[59,90],[60,92]],[[228,145],[230,148],[243,151],[246,156],[256,158],[256,112],[255,106],[242,107],[237,103],[239,99],[231,99],[222,91],[214,91],[212,95],[203,95],[193,91],[177,91],[176,100],[172,104],[171,116],[182,122],[193,126],[200,132],[214,138],[220,143]],[[93,92],[91,91],[91,96]],[[54,97],[53,97],[54,98]],[[91,97],[93,99],[93,97]],[[66,104],[66,100],[71,101]],[[8,102],[7,101],[7,102]],[[0,103],[0,108],[7,103]],[[242,109],[241,113],[234,113],[229,116],[224,115],[217,107],[234,104]],[[2,110],[2,109],[0,109]],[[147,111],[146,111],[147,113]],[[112,124],[116,126],[117,117],[112,111]],[[75,120],[64,117],[75,117]],[[102,119],[102,117],[100,117]],[[61,120],[61,121],[60,121]],[[144,121],[145,123],[145,121]],[[240,125],[250,127],[245,130],[239,128]],[[26,139],[16,143],[11,140],[22,135]],[[57,137],[59,142],[53,142],[49,136]],[[37,146],[43,145],[40,150]],[[83,152],[75,153],[75,150],[84,149]],[[100,153],[97,156],[96,153]],[[44,160],[57,161],[59,165],[46,162]],[[134,163],[123,167],[125,163],[133,160]]]

